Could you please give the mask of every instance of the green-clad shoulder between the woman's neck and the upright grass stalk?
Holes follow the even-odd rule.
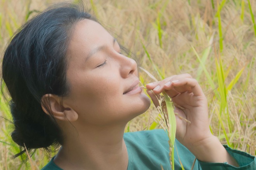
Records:
[[[170,169],[168,136],[162,129],[124,134],[128,170]]]

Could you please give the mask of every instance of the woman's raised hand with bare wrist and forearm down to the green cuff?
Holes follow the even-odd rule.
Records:
[[[209,129],[208,102],[197,80],[189,74],[174,75],[146,85],[154,105],[159,106],[157,95],[165,91],[174,103],[176,139],[186,146],[197,159],[204,162],[228,162],[238,166],[219,139]]]

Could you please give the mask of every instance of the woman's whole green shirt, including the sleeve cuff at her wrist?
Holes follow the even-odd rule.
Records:
[[[163,129],[152,131],[139,131],[124,134],[124,140],[128,151],[129,163],[127,170],[171,170],[169,158],[168,136]],[[233,167],[227,163],[206,163],[195,161],[194,170],[256,170],[255,157],[245,152],[232,150],[225,146],[226,150],[239,163],[240,167]],[[178,140],[175,141],[175,170],[180,170],[180,161],[185,170],[190,170],[195,156]],[[180,161],[179,161],[180,158]],[[62,170],[52,160],[43,170]]]

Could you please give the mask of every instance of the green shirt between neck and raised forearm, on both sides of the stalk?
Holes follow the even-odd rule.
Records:
[[[124,134],[124,140],[129,156],[128,170],[139,169],[171,169],[170,146],[167,133],[163,129],[138,131]],[[190,169],[195,156],[175,140],[175,169],[180,169],[182,162],[185,169]],[[195,168],[197,169],[197,162]]]

